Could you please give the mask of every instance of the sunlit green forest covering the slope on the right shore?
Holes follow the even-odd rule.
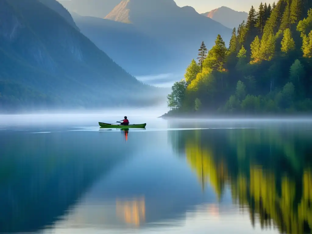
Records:
[[[251,7],[227,47],[204,41],[168,95],[181,114],[292,114],[312,110],[312,1]]]

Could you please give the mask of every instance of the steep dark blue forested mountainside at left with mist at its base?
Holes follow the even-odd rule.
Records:
[[[148,94],[155,88],[129,75],[41,2],[2,0],[0,21],[0,108],[26,108],[33,100],[64,108],[154,100]]]

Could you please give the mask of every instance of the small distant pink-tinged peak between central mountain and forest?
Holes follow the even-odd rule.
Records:
[[[234,11],[229,7],[219,7],[212,11],[202,13],[202,15],[221,23],[228,28],[237,28],[243,20],[246,22],[248,17],[247,12]]]

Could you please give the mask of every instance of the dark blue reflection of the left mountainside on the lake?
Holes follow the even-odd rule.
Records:
[[[105,138],[103,151],[103,138],[88,132],[0,137],[0,233],[53,225],[134,149]]]

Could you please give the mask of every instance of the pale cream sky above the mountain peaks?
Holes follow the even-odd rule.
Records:
[[[218,7],[230,7],[235,11],[249,12],[251,5],[256,9],[261,3],[261,0],[174,0],[179,7],[191,6],[198,13],[205,13]],[[277,2],[277,0],[263,1],[267,4]]]

